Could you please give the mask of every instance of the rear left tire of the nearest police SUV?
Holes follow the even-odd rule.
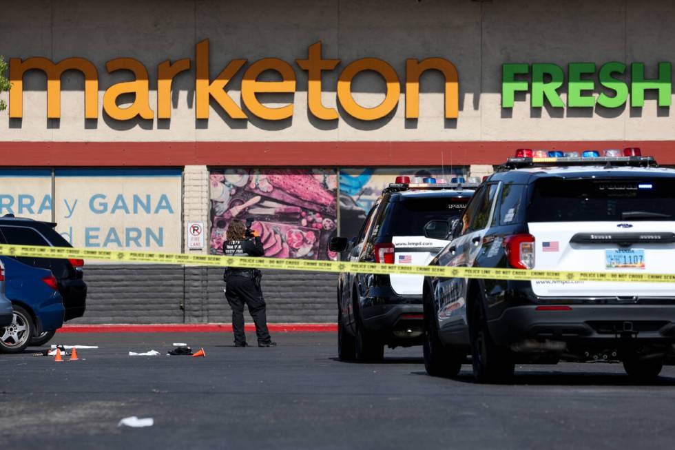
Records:
[[[508,382],[515,370],[513,356],[509,349],[495,345],[480,301],[473,302],[469,324],[473,376],[479,383]]]

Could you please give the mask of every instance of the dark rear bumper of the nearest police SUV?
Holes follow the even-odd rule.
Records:
[[[534,338],[601,344],[623,338],[630,342],[675,343],[675,305],[568,305],[569,310],[543,311],[526,305],[505,309],[488,320],[498,345]]]

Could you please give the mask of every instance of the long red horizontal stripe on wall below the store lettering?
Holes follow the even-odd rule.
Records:
[[[641,147],[675,165],[675,141],[0,142],[2,166],[404,166],[503,163],[517,148]]]

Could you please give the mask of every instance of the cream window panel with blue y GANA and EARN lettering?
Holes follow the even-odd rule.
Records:
[[[74,247],[180,252],[180,169],[57,169],[56,230]]]

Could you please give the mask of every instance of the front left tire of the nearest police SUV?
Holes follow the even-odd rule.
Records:
[[[424,369],[430,376],[452,377],[461,370],[461,355],[449,349],[441,342],[438,335],[438,323],[431,308],[424,311]]]

